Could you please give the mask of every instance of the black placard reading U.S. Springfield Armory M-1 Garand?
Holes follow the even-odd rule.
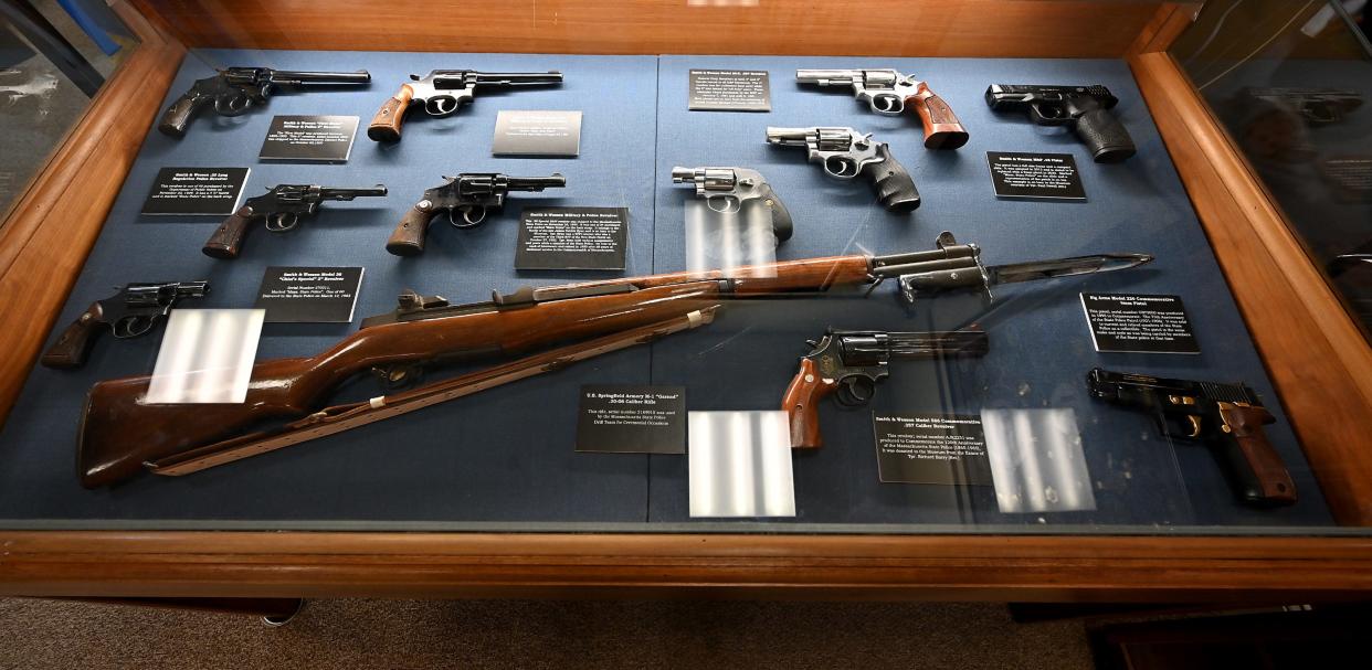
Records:
[[[576,451],[686,454],[686,386],[582,386]]]

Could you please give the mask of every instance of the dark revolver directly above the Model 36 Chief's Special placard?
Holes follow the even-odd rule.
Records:
[[[273,233],[285,233],[295,229],[300,216],[313,216],[320,210],[320,203],[325,200],[353,200],[354,197],[380,197],[384,195],[386,186],[380,184],[364,189],[309,184],[272,186],[266,195],[250,197],[243,203],[243,207],[239,207],[239,211],[224,219],[224,223],[220,223],[220,227],[214,230],[200,251],[213,258],[239,258],[243,236],[247,234],[248,225],[255,219],[263,219],[266,229]]]

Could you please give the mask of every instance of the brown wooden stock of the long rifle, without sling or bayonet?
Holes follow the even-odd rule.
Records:
[[[759,270],[764,271],[740,269],[731,273],[738,278],[727,281],[711,271],[578,284],[571,286],[623,285],[637,290],[509,308],[491,304],[366,327],[316,356],[257,363],[247,397],[236,404],[148,404],[143,401],[147,375],[99,382],[86,396],[77,438],[81,484],[114,484],[137,474],[144,463],[230,440],[263,422],[303,418],[322,407],[346,380],[370,369],[527,352],[660,323],[709,310],[729,297],[870,281],[867,256],[782,262]]]

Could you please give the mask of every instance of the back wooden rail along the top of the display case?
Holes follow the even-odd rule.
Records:
[[[1159,1],[139,0],[188,47],[1118,58]],[[318,16],[328,16],[318,21]],[[379,29],[380,27],[380,29]],[[457,67],[460,63],[454,63]]]

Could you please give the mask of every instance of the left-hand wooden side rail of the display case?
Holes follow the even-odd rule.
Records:
[[[141,44],[0,226],[0,296],[23,296],[22,310],[0,310],[0,421],[19,396],[185,55],[180,42],[125,3],[111,7]]]

